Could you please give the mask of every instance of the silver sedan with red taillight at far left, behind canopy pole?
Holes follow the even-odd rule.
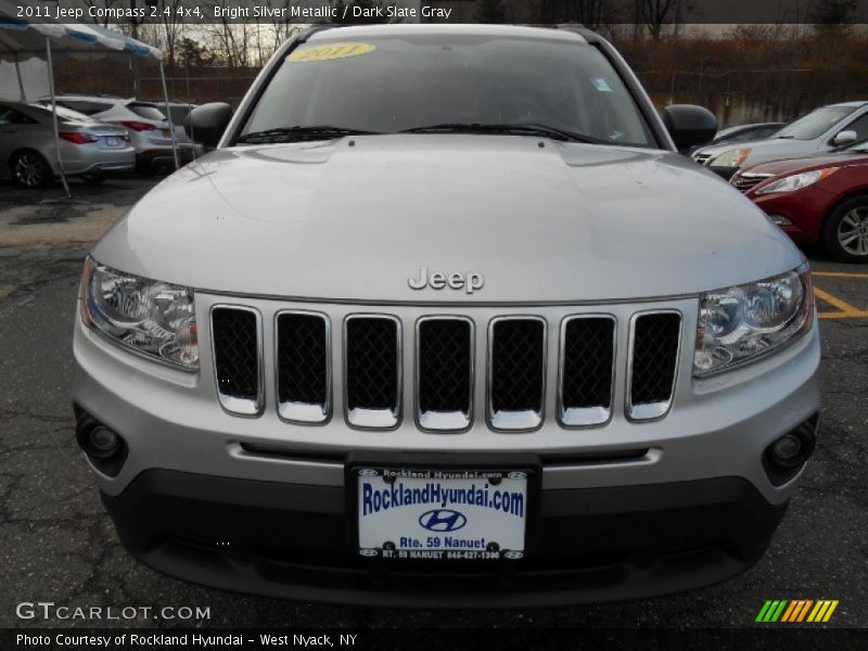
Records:
[[[63,171],[88,182],[105,173],[128,171],[136,154],[126,129],[58,106]],[[41,104],[0,102],[0,178],[40,188],[60,174],[51,108]]]

